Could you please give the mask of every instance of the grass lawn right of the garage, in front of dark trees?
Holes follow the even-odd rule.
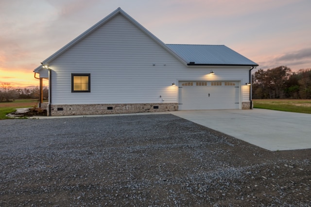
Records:
[[[310,99],[253,99],[254,108],[311,113]]]

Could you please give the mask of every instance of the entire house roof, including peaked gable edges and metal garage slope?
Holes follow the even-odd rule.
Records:
[[[126,14],[120,7],[112,12],[110,15],[106,16],[104,19],[96,23],[94,26],[83,32],[78,37],[73,39],[63,48],[59,49],[57,52],[52,54],[41,64],[48,65],[61,54],[66,52],[69,48],[83,40],[86,36],[103,26],[106,22],[117,15],[122,15],[132,24],[138,27],[139,30],[147,34],[151,39],[153,39],[162,48],[171,53],[175,58],[185,65],[241,65],[241,66],[258,66],[258,64],[252,62],[251,60],[245,58],[234,50],[227,48],[225,46],[215,46],[215,45],[172,45],[164,44],[159,40],[154,34],[149,32],[141,24],[139,24],[135,19]],[[190,63],[192,62],[192,63]],[[194,64],[193,64],[194,62]],[[38,72],[42,69],[42,65],[35,68],[34,72]]]

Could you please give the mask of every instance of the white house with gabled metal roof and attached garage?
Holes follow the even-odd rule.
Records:
[[[121,8],[41,64],[52,116],[251,109],[258,66],[224,45],[164,44]]]

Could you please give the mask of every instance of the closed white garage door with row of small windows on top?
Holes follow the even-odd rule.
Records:
[[[179,110],[239,109],[238,81],[180,81]]]

